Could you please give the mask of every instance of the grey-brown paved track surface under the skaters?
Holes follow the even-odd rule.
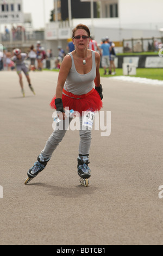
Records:
[[[57,77],[30,72],[33,95],[23,75],[23,98],[16,72],[0,72],[0,245],[163,245],[162,86],[101,78],[111,134],[92,131],[89,186],[77,175],[77,130],[24,185],[53,132]]]

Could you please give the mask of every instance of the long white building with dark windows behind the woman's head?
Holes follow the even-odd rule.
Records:
[[[56,0],[54,0],[55,3]],[[71,28],[79,23],[87,25],[97,42],[105,36],[111,41],[123,39],[161,38],[163,28],[163,0],[80,0],[98,2],[100,18],[72,19],[70,22],[51,22],[46,28],[49,48],[58,44],[65,47],[66,39],[71,37]],[[71,0],[68,0],[71,2]],[[71,10],[69,10],[71,12]],[[70,15],[69,15],[70,16]]]

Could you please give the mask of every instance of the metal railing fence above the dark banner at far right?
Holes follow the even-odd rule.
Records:
[[[161,38],[124,39],[123,53],[127,52],[158,52],[159,45],[163,43]]]

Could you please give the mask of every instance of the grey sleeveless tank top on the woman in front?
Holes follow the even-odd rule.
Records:
[[[92,51],[92,69],[87,74],[79,74],[76,70],[76,67],[74,65],[74,60],[72,53],[68,53],[68,55],[71,56],[72,60],[72,66],[70,69],[70,72],[66,78],[64,89],[67,92],[76,94],[76,95],[82,95],[89,93],[93,86],[94,86],[94,80],[96,77],[96,62],[95,62],[95,52]],[[63,93],[64,94],[64,93]]]

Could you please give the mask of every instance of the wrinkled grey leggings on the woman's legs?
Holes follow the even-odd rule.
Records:
[[[62,138],[65,136],[66,130],[68,128],[68,125],[71,123],[72,118],[68,118],[69,121],[66,119],[64,121],[60,121],[57,126],[55,127],[54,132],[52,135],[48,138],[45,148],[41,151],[41,155],[43,158],[51,157],[53,154],[53,151],[57,148],[58,144],[62,141]],[[63,129],[64,126],[64,129]],[[59,127],[61,127],[61,130],[59,130]],[[80,117],[80,143],[79,143],[79,154],[81,155],[87,155],[90,152],[91,147],[91,128],[82,127],[82,117]]]

